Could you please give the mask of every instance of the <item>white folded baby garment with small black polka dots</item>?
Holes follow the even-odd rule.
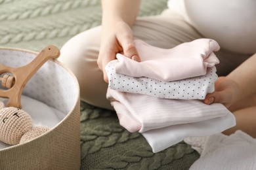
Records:
[[[207,93],[214,92],[214,82],[218,77],[216,67],[209,67],[205,75],[165,82],[148,77],[133,77],[116,73],[116,63],[118,63],[117,59],[110,61],[105,68],[109,88],[165,99],[204,99]]]

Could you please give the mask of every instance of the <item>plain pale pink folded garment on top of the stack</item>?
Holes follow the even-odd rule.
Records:
[[[171,49],[150,46],[141,40],[134,42],[141,62],[117,54],[119,63],[116,65],[116,73],[173,81],[205,75],[207,67],[219,63],[214,52],[217,52],[220,46],[213,39],[196,39]]]

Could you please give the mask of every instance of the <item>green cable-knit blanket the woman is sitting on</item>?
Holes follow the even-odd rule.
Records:
[[[139,15],[160,14],[166,4],[142,0]],[[0,0],[0,46],[61,48],[100,22],[100,0]],[[189,169],[198,158],[183,142],[154,154],[140,133],[119,125],[115,112],[81,102],[81,169]]]

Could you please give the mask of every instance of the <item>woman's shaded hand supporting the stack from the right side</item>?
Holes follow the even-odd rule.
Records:
[[[236,102],[240,90],[239,86],[233,80],[226,76],[221,76],[215,82],[215,92],[207,94],[203,102],[207,105],[212,103],[222,103],[226,108]]]

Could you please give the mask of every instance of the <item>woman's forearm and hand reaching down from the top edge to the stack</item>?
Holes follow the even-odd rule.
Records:
[[[140,1],[102,0],[102,35],[98,67],[103,71],[104,80],[108,82],[105,66],[116,59],[117,53],[127,58],[140,61],[139,54],[133,43],[131,26],[140,10]]]

